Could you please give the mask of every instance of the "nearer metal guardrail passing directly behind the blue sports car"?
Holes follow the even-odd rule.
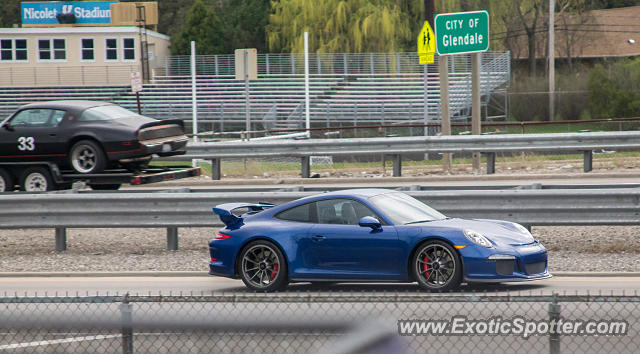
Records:
[[[526,226],[640,225],[640,188],[498,191],[408,191],[445,215],[502,219]],[[167,228],[178,249],[179,227],[216,227],[211,208],[231,202],[282,204],[316,192],[5,194],[0,228],[55,228],[56,250],[66,228]]]

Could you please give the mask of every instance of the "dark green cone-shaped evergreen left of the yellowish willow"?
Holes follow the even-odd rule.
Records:
[[[184,25],[173,38],[171,53],[184,55],[191,52],[191,41],[196,41],[198,54],[225,53],[222,21],[217,11],[204,0],[196,0],[187,13]]]

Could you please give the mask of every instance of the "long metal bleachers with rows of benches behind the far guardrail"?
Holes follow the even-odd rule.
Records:
[[[234,78],[234,56],[199,56],[197,76],[200,131],[243,130],[245,87]],[[482,55],[484,103],[509,84],[509,52]],[[454,120],[468,119],[471,70],[468,55],[450,60],[450,110]],[[304,124],[304,69],[301,54],[258,56],[258,79],[250,83],[253,129],[299,128]],[[188,57],[166,60],[164,75],[144,85],[143,114],[191,120]],[[161,70],[162,71],[162,70]],[[312,54],[310,112],[314,126],[436,122],[440,117],[437,62],[418,64],[415,53]],[[426,75],[426,83],[425,83]],[[426,87],[426,99],[425,99]],[[0,89],[0,114],[34,101],[92,99],[132,110],[136,96],[129,86],[6,87]]]

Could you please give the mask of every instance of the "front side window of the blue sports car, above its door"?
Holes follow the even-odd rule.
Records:
[[[358,225],[361,218],[372,216],[379,219],[366,205],[351,199],[327,199],[317,203],[318,223]]]

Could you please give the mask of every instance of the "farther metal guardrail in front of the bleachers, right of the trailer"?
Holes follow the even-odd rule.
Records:
[[[355,139],[308,139],[260,142],[196,143],[172,160],[212,162],[212,178],[220,179],[220,159],[295,156],[302,158],[302,177],[309,177],[310,156],[392,155],[393,175],[400,176],[402,154],[470,153],[487,155],[487,173],[495,172],[497,152],[582,151],[584,171],[592,170],[593,150],[640,150],[640,131],[559,134],[457,135]]]

